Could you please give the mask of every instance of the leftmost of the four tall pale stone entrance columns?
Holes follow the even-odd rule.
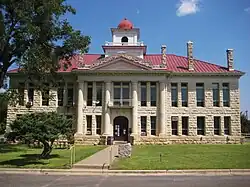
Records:
[[[77,104],[77,132],[76,134],[83,134],[83,89],[84,83],[78,83],[78,104]]]

